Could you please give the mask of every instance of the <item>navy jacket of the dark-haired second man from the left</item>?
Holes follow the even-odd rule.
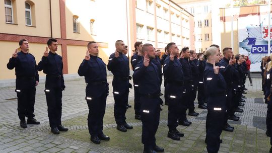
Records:
[[[54,54],[51,51],[48,53],[48,56],[42,56],[41,61],[38,63],[37,69],[39,71],[43,70],[43,72],[46,74],[46,81],[45,86],[54,86],[64,89],[64,80],[63,80],[63,63],[62,63],[62,57],[58,54]],[[57,80],[51,80],[50,77],[58,77],[60,81]],[[50,80],[50,81],[49,81]]]

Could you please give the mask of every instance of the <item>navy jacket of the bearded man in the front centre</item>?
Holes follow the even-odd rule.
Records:
[[[161,92],[161,80],[158,67],[150,61],[144,66],[144,59],[140,61],[134,69],[133,79],[139,83],[139,93],[141,95],[159,94]]]

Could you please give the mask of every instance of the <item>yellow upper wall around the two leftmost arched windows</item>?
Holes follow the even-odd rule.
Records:
[[[32,15],[32,25],[26,26],[25,21],[25,1],[14,1],[13,3],[13,15],[15,22],[14,24],[7,24],[5,22],[5,7],[4,1],[0,7],[0,33],[9,34],[20,34],[20,35],[31,35],[31,36],[41,36],[50,37],[50,12],[49,12],[49,1],[32,0],[34,7],[32,7],[32,12],[35,12],[35,16]],[[59,1],[51,1],[52,6],[52,17],[53,17],[53,27],[54,36],[60,38],[60,29],[57,28],[60,23],[59,18]],[[57,8],[58,7],[58,8]]]

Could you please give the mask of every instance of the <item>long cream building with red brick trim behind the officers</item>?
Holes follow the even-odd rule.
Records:
[[[158,6],[160,15],[156,14]],[[164,9],[168,10],[165,19]],[[157,48],[175,41],[179,46],[194,48],[191,21],[191,14],[163,0],[1,0],[0,86],[16,78],[15,71],[6,65],[21,39],[29,41],[29,52],[39,62],[48,38],[56,38],[57,53],[63,57],[63,73],[76,75],[89,41],[98,42],[99,57],[106,64],[118,39],[128,45],[129,58],[135,41],[152,43]]]

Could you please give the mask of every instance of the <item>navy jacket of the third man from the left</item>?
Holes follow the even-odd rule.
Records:
[[[83,60],[78,74],[84,76],[85,82],[92,85],[91,92],[100,96],[108,92],[106,64],[100,57],[90,55],[90,60]]]

